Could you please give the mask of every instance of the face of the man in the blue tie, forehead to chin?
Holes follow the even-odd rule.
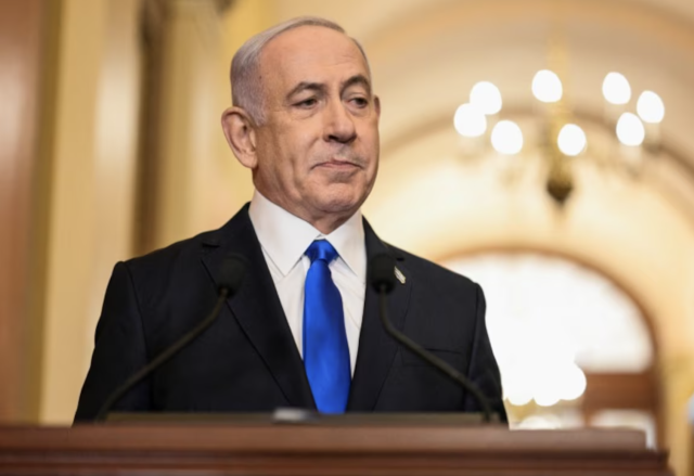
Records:
[[[265,121],[256,128],[258,190],[323,232],[367,198],[378,168],[378,100],[347,36],[304,26],[260,56]],[[325,229],[326,228],[326,229]]]

